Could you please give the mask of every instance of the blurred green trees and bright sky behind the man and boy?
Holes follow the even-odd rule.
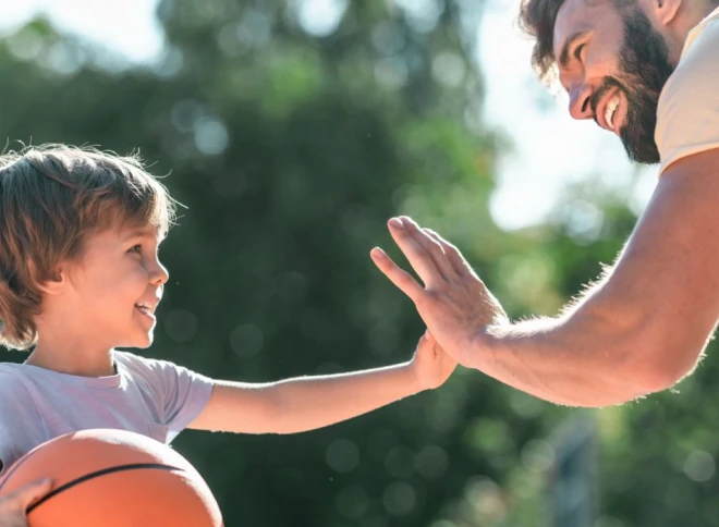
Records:
[[[535,79],[516,0],[0,0],[0,137],[139,149],[187,208],[149,356],[266,382],[407,360],[369,260],[407,213],[513,318],[611,264],[637,170]],[[0,359],[22,361],[20,353]],[[671,392],[563,408],[458,370],[294,436],[185,431],[229,527],[719,525],[717,360]]]

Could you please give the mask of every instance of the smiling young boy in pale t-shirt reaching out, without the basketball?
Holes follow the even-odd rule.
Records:
[[[429,333],[412,360],[267,384],[209,379],[117,351],[148,347],[174,218],[135,158],[62,145],[0,157],[0,461],[63,433],[118,428],[169,443],[184,428],[292,433],[442,384],[454,363]],[[2,474],[2,471],[0,471]]]

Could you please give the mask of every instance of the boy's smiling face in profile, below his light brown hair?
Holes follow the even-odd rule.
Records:
[[[93,342],[147,347],[155,308],[168,271],[160,264],[155,229],[121,228],[89,235],[83,256],[69,268],[68,305]]]

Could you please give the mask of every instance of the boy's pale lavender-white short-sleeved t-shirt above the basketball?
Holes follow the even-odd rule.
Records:
[[[0,363],[0,474],[35,446],[90,428],[170,443],[209,401],[205,376],[127,352],[113,356],[117,375],[99,378]]]

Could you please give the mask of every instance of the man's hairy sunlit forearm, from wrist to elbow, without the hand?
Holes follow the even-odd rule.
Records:
[[[461,360],[537,397],[607,406],[654,390],[638,367],[639,338],[585,305],[558,318],[488,327]]]

